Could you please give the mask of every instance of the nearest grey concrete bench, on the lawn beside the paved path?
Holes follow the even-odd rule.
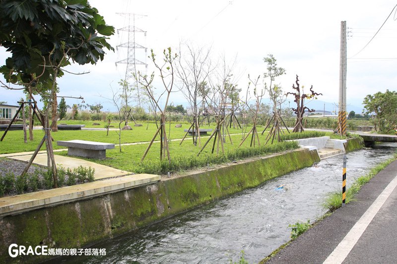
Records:
[[[67,147],[67,155],[83,158],[106,158],[106,150],[114,149],[115,144],[86,140],[57,141],[58,146]]]

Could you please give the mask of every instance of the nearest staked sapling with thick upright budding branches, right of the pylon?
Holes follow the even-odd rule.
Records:
[[[165,158],[165,155],[167,154],[168,162],[169,163],[171,162],[165,122],[166,122],[166,109],[175,82],[175,59],[178,57],[178,54],[177,53],[172,54],[171,48],[168,48],[163,51],[163,55],[164,57],[162,59],[161,64],[157,63],[156,55],[153,53],[153,50],[151,50],[151,55],[149,57],[152,60],[154,66],[157,68],[157,70],[160,73],[161,82],[164,86],[162,92],[155,93],[155,90],[152,86],[152,82],[154,79],[154,72],[152,72],[150,76],[143,75],[139,71],[137,72],[136,75],[134,75],[137,83],[142,86],[151,104],[155,106],[154,111],[156,111],[156,109],[160,111],[160,126],[157,128],[157,131],[154,134],[152,140],[150,141],[149,146],[145,150],[141,158],[141,161],[143,161],[143,159],[146,157],[148,151],[150,150],[150,147],[153,144],[153,141],[157,137],[157,134],[160,134],[160,139],[161,139],[160,160]],[[165,99],[165,104],[163,105],[163,107],[161,107],[159,101],[163,95],[165,95],[166,99]]]

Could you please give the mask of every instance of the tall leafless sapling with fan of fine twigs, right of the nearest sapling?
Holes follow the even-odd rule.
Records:
[[[186,52],[184,51],[186,49]],[[183,53],[183,54],[182,54]],[[179,46],[179,56],[177,59],[176,73],[178,77],[178,84],[180,91],[189,103],[192,111],[191,126],[186,132],[180,145],[189,132],[193,136],[193,144],[201,146],[200,133],[199,133],[199,115],[200,106],[202,105],[202,97],[200,97],[200,90],[205,85],[208,75],[211,71],[211,61],[209,58],[210,49],[193,48],[188,44]]]

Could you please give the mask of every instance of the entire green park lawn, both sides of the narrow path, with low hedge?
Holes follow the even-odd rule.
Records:
[[[82,121],[73,121],[69,122],[69,124],[88,124],[92,125],[92,122],[82,122]],[[255,156],[264,156],[270,153],[281,152],[284,150],[295,149],[297,148],[296,143],[275,143],[273,145],[267,144],[265,145],[266,136],[268,131],[261,135],[262,127],[258,127],[259,130],[259,138],[261,141],[261,147],[258,148],[250,148],[251,136],[244,142],[244,144],[239,148],[239,144],[242,140],[242,130],[241,129],[233,129],[229,128],[230,138],[232,143],[230,143],[229,136],[225,136],[224,143],[224,153],[221,152],[221,144],[219,143],[219,154],[216,154],[217,144],[214,146],[214,154],[211,154],[213,147],[213,139],[208,143],[206,148],[202,151],[200,156],[197,154],[200,151],[199,146],[193,145],[192,137],[188,136],[182,145],[180,142],[184,136],[185,128],[189,128],[189,124],[182,124],[181,128],[176,128],[175,123],[171,123],[171,126],[167,124],[167,136],[170,134],[169,142],[170,147],[170,157],[171,163],[168,163],[167,158],[160,161],[160,143],[153,143],[150,151],[148,152],[146,158],[143,162],[141,162],[141,158],[143,153],[145,152],[148,142],[154,136],[157,127],[155,123],[146,123],[141,127],[132,127],[132,130],[122,131],[121,143],[139,143],[144,142],[142,144],[133,144],[133,145],[122,145],[122,152],[120,152],[120,148],[116,145],[115,149],[107,150],[107,158],[103,160],[97,159],[89,159],[90,161],[94,161],[103,165],[107,165],[110,167],[115,167],[122,170],[127,170],[131,172],[137,173],[166,173],[167,171],[175,172],[185,169],[191,169],[195,167],[202,167],[210,164],[219,164],[224,162],[231,162],[233,160],[249,158]],[[211,126],[201,126],[201,128],[212,128],[214,129],[215,124]],[[244,129],[246,132],[249,132],[251,127],[247,127]],[[44,132],[42,130],[34,130],[34,141],[28,141],[28,143],[23,142],[23,131],[9,131],[2,142],[0,142],[0,154],[9,154],[9,153],[17,153],[17,152],[27,152],[34,151],[37,147],[39,141],[42,139]],[[118,130],[109,131],[109,135],[106,135],[106,130],[61,130],[58,132],[52,133],[54,137],[53,146],[54,149],[64,149],[65,147],[58,146],[56,141],[58,140],[88,140],[88,141],[96,141],[96,142],[105,142],[105,143],[119,143],[119,136],[117,134]],[[210,133],[209,133],[210,134]],[[208,136],[209,136],[208,134]],[[297,139],[297,138],[307,138],[307,137],[318,137],[324,135],[331,135],[331,132],[317,132],[317,131],[307,131],[303,133],[294,133],[294,134],[286,134],[283,138],[285,140],[289,139]],[[208,140],[207,137],[201,138],[201,147]],[[159,136],[156,140],[159,140]],[[175,140],[175,141],[173,141]],[[45,150],[45,146],[42,147],[42,150]],[[57,155],[67,155],[66,151],[57,152]]]

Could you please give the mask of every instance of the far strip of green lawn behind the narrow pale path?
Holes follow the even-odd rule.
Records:
[[[176,128],[175,123],[171,123],[171,130],[169,128],[169,124],[167,124],[167,136],[170,131],[170,139],[178,139],[183,138],[185,135],[184,129],[189,128],[189,124],[182,124],[181,128]],[[214,128],[214,124],[211,124],[211,127],[201,126],[201,128]],[[251,129],[251,127],[247,128],[247,132]],[[150,141],[156,132],[157,127],[155,123],[145,124],[140,127],[132,127],[132,130],[122,131],[121,143],[135,143],[135,142],[145,142]],[[241,133],[241,129],[229,129],[231,134]],[[210,133],[209,133],[210,134]],[[0,133],[2,135],[2,133]],[[29,141],[28,143],[23,142],[23,131],[8,131],[7,135],[0,142],[0,154],[7,153],[16,153],[16,152],[27,152],[34,151],[44,136],[43,130],[33,130],[34,140]],[[106,131],[92,131],[92,130],[61,130],[58,132],[52,133],[52,136],[55,141],[57,140],[73,140],[73,139],[81,139],[88,141],[97,141],[97,142],[105,142],[105,143],[114,143],[119,144],[119,135],[117,131],[109,131],[109,136],[106,136]],[[159,137],[158,137],[159,138]],[[187,140],[189,141],[189,139]],[[190,138],[190,142],[192,139]],[[56,142],[53,143],[54,149],[63,149],[65,147],[58,146]],[[43,146],[42,150],[45,150],[45,146]]]

